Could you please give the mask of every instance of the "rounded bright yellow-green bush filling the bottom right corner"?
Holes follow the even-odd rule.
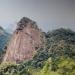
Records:
[[[58,72],[61,75],[75,75],[75,60],[61,57],[58,62]]]

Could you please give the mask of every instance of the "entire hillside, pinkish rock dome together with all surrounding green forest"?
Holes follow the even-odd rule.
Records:
[[[23,17],[7,47],[0,75],[75,75],[75,32],[42,32]]]

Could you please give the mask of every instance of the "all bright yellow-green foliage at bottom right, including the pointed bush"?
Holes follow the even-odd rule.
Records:
[[[52,60],[46,61],[45,66],[36,75],[75,75],[75,60],[61,57],[56,64],[57,71],[52,71]]]

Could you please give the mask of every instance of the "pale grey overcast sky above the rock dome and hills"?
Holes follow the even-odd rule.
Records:
[[[0,26],[12,32],[22,17],[36,21],[46,32],[75,30],[75,0],[0,0]]]

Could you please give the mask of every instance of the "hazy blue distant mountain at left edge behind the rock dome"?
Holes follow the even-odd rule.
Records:
[[[4,50],[10,40],[11,35],[7,33],[2,27],[0,27],[0,61],[2,59]]]

